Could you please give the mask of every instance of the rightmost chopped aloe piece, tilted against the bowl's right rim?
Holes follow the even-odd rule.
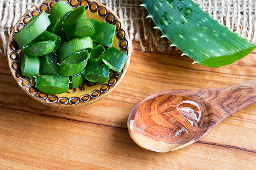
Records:
[[[128,60],[128,56],[122,51],[119,51],[114,47],[110,47],[108,48],[108,51],[103,55],[102,60],[113,71],[120,73]]]

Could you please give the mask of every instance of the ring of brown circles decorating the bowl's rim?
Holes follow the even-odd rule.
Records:
[[[29,11],[29,14],[24,15],[20,23],[17,23],[15,26],[14,31],[11,34],[12,41],[9,43],[9,48],[10,48],[10,53],[9,53],[9,59],[12,61],[11,68],[14,73],[14,77],[17,79],[18,83],[25,88],[29,94],[33,95],[35,98],[38,98],[38,100],[45,100],[47,103],[50,104],[60,104],[60,105],[78,105],[79,103],[87,103],[90,102],[91,99],[96,99],[98,98],[102,93],[106,93],[111,89],[111,86],[115,85],[116,82],[118,81],[119,77],[122,75],[123,71],[121,71],[120,74],[117,74],[115,71],[113,71],[113,76],[108,79],[108,82],[101,85],[98,90],[93,90],[91,91],[90,94],[84,94],[79,97],[57,97],[55,95],[51,94],[44,94],[38,91],[37,88],[35,88],[34,85],[29,81],[29,79],[25,79],[24,76],[21,75],[20,72],[20,63],[19,61],[19,47],[13,37],[15,34],[17,34],[18,31],[23,28],[23,26],[28,23],[28,21],[31,19],[31,17],[35,16],[41,11],[46,11],[48,12],[52,6],[57,3],[58,0],[50,0],[50,1],[45,1],[41,3],[38,7],[35,7],[35,9]],[[105,8],[105,6],[99,6],[98,3],[96,2],[90,2],[89,0],[68,0],[68,2],[73,8],[77,8],[79,6],[84,5],[85,9],[89,9],[90,12],[96,12],[99,17],[104,17],[104,20],[106,23],[110,23],[116,26],[116,38],[119,40],[118,46],[121,49],[122,52],[128,55],[128,41],[125,39],[125,31],[121,29],[121,23],[118,20],[115,20],[115,16],[108,12],[108,9]],[[125,43],[124,43],[125,42]],[[78,89],[79,91],[84,91],[84,86],[94,86],[96,83],[92,82],[84,82]],[[73,89],[72,92],[75,92],[77,89]],[[67,92],[71,93],[71,92]]]

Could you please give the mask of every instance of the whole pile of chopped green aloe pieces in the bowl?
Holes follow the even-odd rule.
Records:
[[[73,10],[64,0],[52,6],[48,14],[43,11],[32,17],[14,37],[23,48],[21,74],[35,79],[39,91],[61,94],[85,80],[107,82],[110,69],[122,71],[128,56],[111,47],[116,26],[87,20],[84,6]]]

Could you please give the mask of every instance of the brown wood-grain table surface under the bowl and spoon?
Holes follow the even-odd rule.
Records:
[[[256,79],[256,50],[221,68],[192,64],[180,51],[134,52],[125,77],[86,108],[42,105],[15,82],[0,54],[0,170],[255,170],[256,104],[233,114],[201,140],[156,153],[135,144],[127,129],[141,99],[168,89],[221,88]],[[1,47],[2,48],[2,47]]]

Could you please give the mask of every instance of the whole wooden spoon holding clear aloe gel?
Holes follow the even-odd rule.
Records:
[[[201,139],[228,116],[256,102],[256,79],[227,88],[167,90],[141,100],[128,117],[140,147],[169,152]]]

